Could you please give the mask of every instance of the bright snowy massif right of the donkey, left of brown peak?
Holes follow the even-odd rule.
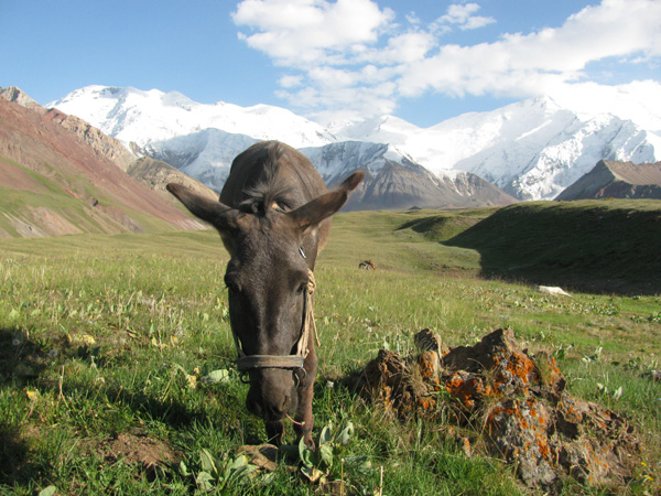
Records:
[[[553,198],[599,160],[655,162],[661,136],[608,114],[539,97],[422,129],[382,117],[334,129],[338,139],[388,142],[432,172],[473,172],[520,200]]]

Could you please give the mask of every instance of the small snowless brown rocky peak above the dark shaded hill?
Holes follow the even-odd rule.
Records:
[[[636,164],[600,160],[556,200],[589,198],[661,200],[661,162]]]

